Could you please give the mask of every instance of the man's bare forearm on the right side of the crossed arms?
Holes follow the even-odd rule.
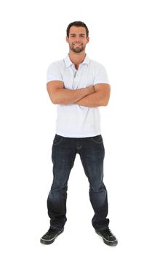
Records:
[[[83,99],[76,102],[77,105],[93,108],[105,106],[104,97],[101,91],[96,91],[94,94],[87,95]]]

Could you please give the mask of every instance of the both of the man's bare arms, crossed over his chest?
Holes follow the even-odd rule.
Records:
[[[111,87],[107,83],[98,83],[83,89],[64,89],[62,81],[47,83],[49,97],[54,104],[81,105],[85,107],[99,107],[108,105]]]

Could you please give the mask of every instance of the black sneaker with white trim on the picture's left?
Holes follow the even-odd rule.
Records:
[[[63,230],[64,228],[62,230],[54,230],[49,227],[47,233],[45,233],[44,236],[41,237],[41,244],[52,244],[55,241],[55,238],[63,233]]]

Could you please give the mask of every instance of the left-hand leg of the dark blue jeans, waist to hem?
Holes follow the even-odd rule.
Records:
[[[47,198],[50,227],[62,229],[67,220],[68,178],[76,157],[74,140],[55,135],[52,146],[53,182]]]

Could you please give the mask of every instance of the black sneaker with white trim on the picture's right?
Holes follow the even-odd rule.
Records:
[[[111,230],[108,228],[106,230],[95,230],[95,232],[99,235],[102,236],[103,241],[107,245],[115,246],[118,244],[118,240],[116,239],[116,236],[114,236],[111,233]]]

